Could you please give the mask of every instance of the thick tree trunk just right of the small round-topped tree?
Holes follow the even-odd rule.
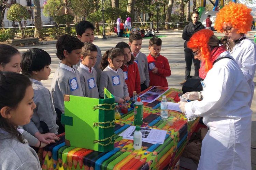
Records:
[[[34,0],[35,37],[44,38],[42,34],[42,18],[40,6],[40,0]]]

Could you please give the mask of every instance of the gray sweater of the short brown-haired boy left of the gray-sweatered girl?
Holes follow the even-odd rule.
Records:
[[[91,68],[91,70],[93,71],[93,73],[90,73],[88,70],[85,70],[80,66],[78,67],[78,71],[80,73],[81,87],[84,96],[99,99],[97,72],[93,67]]]

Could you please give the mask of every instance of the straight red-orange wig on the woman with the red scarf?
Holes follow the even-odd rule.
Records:
[[[187,43],[188,48],[200,50],[200,53],[205,62],[206,73],[212,68],[212,63],[210,62],[210,51],[208,49],[208,41],[213,35],[213,31],[203,29],[193,34]]]

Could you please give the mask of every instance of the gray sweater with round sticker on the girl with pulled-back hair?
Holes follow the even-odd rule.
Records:
[[[118,73],[106,67],[100,77],[100,97],[104,97],[104,87],[115,96],[115,102],[120,98],[129,96],[128,87],[125,83],[123,70],[118,68]]]

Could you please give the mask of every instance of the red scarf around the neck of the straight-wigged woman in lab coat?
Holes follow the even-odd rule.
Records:
[[[225,46],[219,46],[215,47],[211,52],[210,52],[210,62],[213,64],[213,62],[218,58],[218,56],[223,53],[224,51],[227,51]],[[205,79],[206,77],[206,72],[205,72],[205,62],[201,62],[201,67],[199,69],[199,77],[202,79]]]

